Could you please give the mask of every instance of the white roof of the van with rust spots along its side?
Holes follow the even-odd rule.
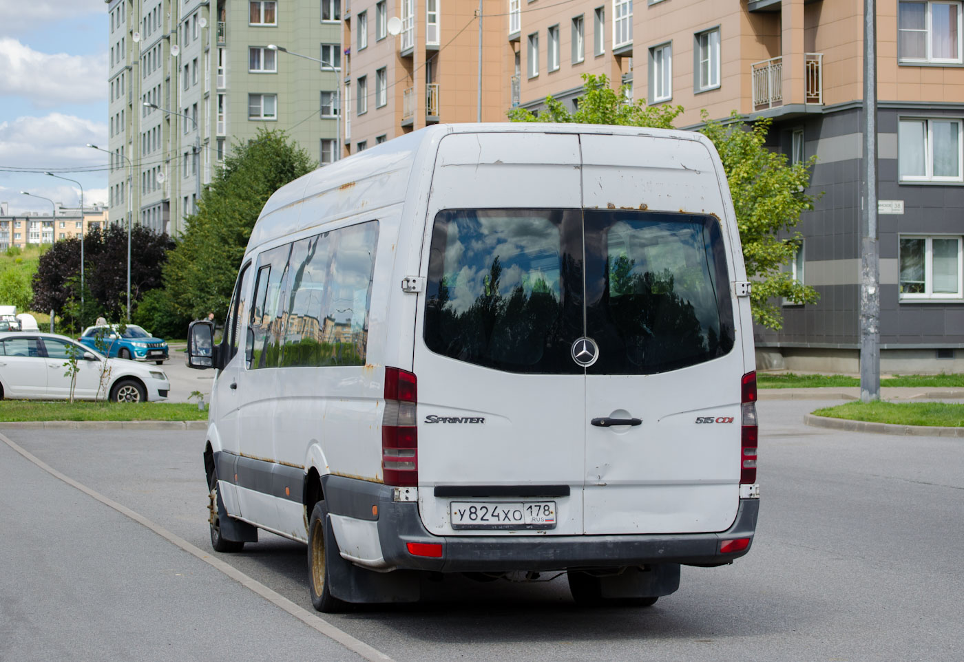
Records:
[[[438,143],[446,135],[506,132],[650,136],[710,145],[708,138],[693,131],[641,126],[544,122],[435,124],[369,147],[282,186],[265,203],[246,253],[279,237],[323,225],[329,219],[403,202],[412,192],[413,173],[431,172]]]

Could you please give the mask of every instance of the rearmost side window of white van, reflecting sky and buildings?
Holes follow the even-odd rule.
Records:
[[[295,243],[281,365],[364,365],[378,222]]]

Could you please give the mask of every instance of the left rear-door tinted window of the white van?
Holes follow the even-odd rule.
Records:
[[[432,234],[425,343],[512,372],[578,373],[581,223],[576,210],[445,210]]]

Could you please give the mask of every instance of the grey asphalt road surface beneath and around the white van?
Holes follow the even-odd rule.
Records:
[[[964,444],[804,426],[822,405],[760,403],[753,549],[684,568],[654,607],[577,608],[565,577],[453,578],[417,605],[324,619],[399,662],[962,659]],[[201,433],[0,432],[209,551]],[[357,659],[6,444],[0,498],[0,659]],[[304,545],[262,534],[211,554],[310,609]]]

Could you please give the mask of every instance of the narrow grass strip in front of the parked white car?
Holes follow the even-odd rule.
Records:
[[[4,400],[0,421],[193,421],[206,420],[195,403],[40,402]]]

